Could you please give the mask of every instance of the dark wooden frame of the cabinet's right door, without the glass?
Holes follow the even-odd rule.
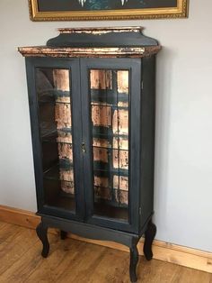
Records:
[[[88,151],[84,154],[84,196],[86,199],[86,217],[88,224],[97,224],[121,231],[138,233],[139,188],[140,188],[140,111],[141,111],[141,59],[80,59],[81,95],[83,113],[83,139]],[[91,101],[89,95],[88,69],[128,69],[130,70],[129,89],[129,223],[106,217],[93,216],[93,153],[91,132]],[[134,163],[134,164],[133,164]]]

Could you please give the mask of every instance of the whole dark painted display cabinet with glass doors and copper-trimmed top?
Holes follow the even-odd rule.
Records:
[[[152,258],[157,41],[140,28],[60,30],[26,57],[31,135],[41,223],[47,230],[137,242]]]

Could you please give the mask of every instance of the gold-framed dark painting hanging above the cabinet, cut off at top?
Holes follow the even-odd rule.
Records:
[[[29,0],[32,21],[182,18],[189,0]]]

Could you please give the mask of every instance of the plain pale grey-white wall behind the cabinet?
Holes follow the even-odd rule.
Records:
[[[190,18],[32,23],[26,0],[0,1],[0,204],[36,211],[24,59],[57,27],[141,25],[163,45],[157,64],[155,223],[158,240],[212,251],[212,2]]]

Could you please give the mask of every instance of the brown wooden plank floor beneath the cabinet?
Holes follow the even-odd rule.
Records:
[[[49,233],[50,253],[40,256],[34,230],[0,222],[0,283],[122,283],[128,279],[128,253]],[[140,257],[137,282],[212,283],[212,274]]]

